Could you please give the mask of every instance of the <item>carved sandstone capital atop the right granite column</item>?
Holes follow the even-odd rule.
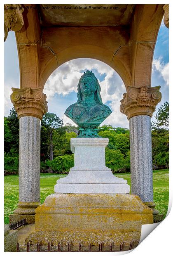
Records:
[[[160,86],[140,88],[130,87],[128,92],[123,94],[120,100],[120,111],[125,114],[128,120],[133,116],[147,115],[152,117],[157,104],[161,101]]]

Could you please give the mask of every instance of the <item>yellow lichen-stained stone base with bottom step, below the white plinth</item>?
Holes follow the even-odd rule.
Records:
[[[26,242],[119,245],[139,240],[141,225],[150,223],[152,209],[133,194],[51,194],[36,209]]]

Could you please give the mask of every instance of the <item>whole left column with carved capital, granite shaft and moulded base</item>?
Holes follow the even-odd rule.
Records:
[[[22,218],[35,223],[40,205],[40,123],[47,112],[42,88],[12,88],[12,103],[19,117],[19,203],[10,223]]]

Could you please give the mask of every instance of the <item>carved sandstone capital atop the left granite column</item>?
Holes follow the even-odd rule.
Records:
[[[23,89],[12,88],[11,102],[18,114],[22,116],[35,116],[42,120],[42,116],[48,111],[46,94],[42,92],[43,88]]]

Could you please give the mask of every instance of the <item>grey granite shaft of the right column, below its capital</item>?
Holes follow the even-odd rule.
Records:
[[[129,119],[131,152],[131,192],[143,202],[153,202],[152,138],[150,116]]]

